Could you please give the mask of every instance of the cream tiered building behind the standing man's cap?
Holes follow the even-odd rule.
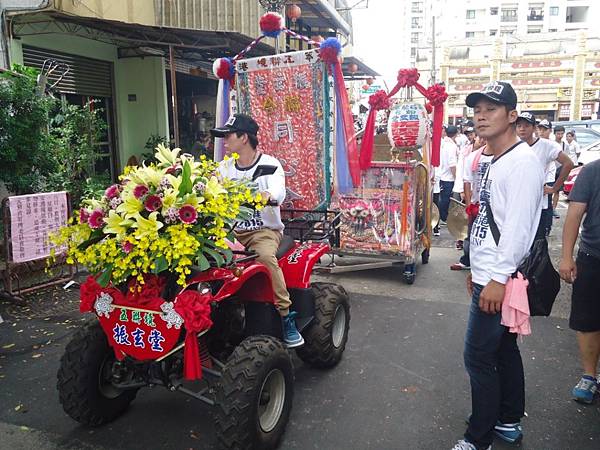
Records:
[[[438,81],[449,94],[449,121],[472,117],[466,107],[469,92],[491,80],[510,82],[518,109],[550,120],[600,117],[600,38],[584,31],[535,34],[520,42],[506,40],[479,45],[442,43]]]

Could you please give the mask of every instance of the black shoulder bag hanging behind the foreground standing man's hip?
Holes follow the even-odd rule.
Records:
[[[500,242],[500,230],[494,221],[494,213],[490,205],[485,205],[485,214],[492,231],[496,245]],[[529,299],[529,315],[549,316],[552,306],[560,291],[560,275],[554,269],[550,254],[548,253],[548,242],[546,238],[533,241],[529,255],[517,268],[524,278],[529,281],[527,286],[527,297]],[[515,272],[512,276],[517,276]]]

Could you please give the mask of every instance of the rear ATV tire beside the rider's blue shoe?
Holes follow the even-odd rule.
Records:
[[[342,359],[348,340],[350,303],[348,294],[338,284],[313,283],[312,289],[315,294],[315,318],[302,331],[304,346],[296,352],[302,361],[326,369]]]

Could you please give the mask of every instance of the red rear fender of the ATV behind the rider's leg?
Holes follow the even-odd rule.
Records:
[[[315,242],[297,243],[288,250],[279,260],[287,288],[309,288],[314,265],[329,250],[329,244]]]

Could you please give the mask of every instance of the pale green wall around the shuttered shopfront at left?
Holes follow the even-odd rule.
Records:
[[[139,157],[151,134],[168,135],[167,91],[162,58],[118,59],[117,48],[76,36],[25,36],[10,42],[11,63],[22,63],[22,45],[71,53],[113,63],[119,169]],[[135,95],[135,101],[129,101]]]

